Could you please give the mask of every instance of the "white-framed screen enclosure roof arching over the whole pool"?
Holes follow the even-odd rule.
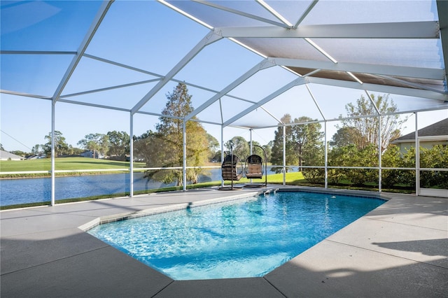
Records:
[[[448,1],[1,1],[1,93],[204,123],[334,120],[346,93],[448,108]],[[356,99],[356,98],[354,98]]]

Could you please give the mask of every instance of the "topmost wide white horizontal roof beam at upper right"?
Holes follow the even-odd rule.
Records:
[[[390,22],[372,24],[303,25],[297,29],[281,27],[227,27],[223,37],[233,38],[439,38],[439,23]]]

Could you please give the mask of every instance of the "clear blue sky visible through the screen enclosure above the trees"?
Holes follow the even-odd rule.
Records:
[[[80,3],[1,1],[1,50],[76,51],[99,8],[97,1],[83,2],[83,6]],[[80,60],[62,95],[72,101],[111,104],[130,109],[155,85],[151,80],[168,73],[208,32],[209,29],[160,3],[116,1],[85,51],[91,56]],[[72,57],[73,55],[1,55],[1,89],[52,97]],[[147,72],[105,64],[92,57],[102,57]],[[261,61],[262,57],[224,39],[204,48],[175,78],[219,91]],[[295,78],[278,66],[271,67],[260,71],[230,94],[259,101]],[[140,81],[148,82],[76,95],[86,90]],[[165,107],[167,94],[172,92],[175,85],[176,83],[165,85],[141,111],[160,113]],[[193,86],[188,89],[193,95],[195,107],[214,95],[214,92]],[[277,119],[284,113],[290,113],[293,118],[305,115],[322,120],[311,94],[318,101],[319,108],[327,119],[344,115],[345,104],[356,101],[361,95],[365,97],[365,92],[360,90],[312,84],[307,90],[301,85],[265,104],[263,108],[269,111],[270,115],[258,108],[248,115],[246,120],[240,122],[250,120],[259,125],[276,125]],[[390,98],[399,104],[400,111],[422,108],[418,101],[409,97],[391,94]],[[235,107],[244,108],[248,105],[232,97],[223,97],[223,118],[228,119],[235,115]],[[202,112],[199,118],[204,121],[217,121],[217,118],[221,118],[219,108],[220,104],[216,102]],[[0,143],[3,148],[8,151],[30,152],[36,144],[45,143],[45,136],[51,131],[51,109],[49,100],[0,94]],[[55,129],[62,132],[66,142],[73,147],[77,147],[78,141],[87,134],[106,134],[113,130],[130,133],[128,112],[58,102],[55,105],[55,113]],[[447,117],[446,109],[421,113],[419,128]],[[137,113],[133,118],[134,135],[139,136],[149,129],[154,130],[158,121],[156,116]],[[328,122],[328,139],[336,132],[337,124],[338,122]],[[204,124],[204,127],[216,139],[221,139],[219,125]],[[403,134],[412,132],[414,127],[414,118],[410,116]],[[265,145],[274,139],[274,131],[275,128],[255,129],[252,138]],[[227,141],[233,136],[243,136],[249,140],[251,133],[246,129],[225,128],[223,140]]]

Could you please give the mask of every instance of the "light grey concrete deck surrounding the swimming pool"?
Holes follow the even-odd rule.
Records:
[[[386,194],[385,204],[260,278],[173,281],[79,228],[258,191],[188,190],[1,211],[0,296],[448,297],[443,198]]]

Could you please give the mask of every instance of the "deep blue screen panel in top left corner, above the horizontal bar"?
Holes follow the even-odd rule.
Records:
[[[1,1],[1,50],[76,50],[100,5],[101,1]]]

